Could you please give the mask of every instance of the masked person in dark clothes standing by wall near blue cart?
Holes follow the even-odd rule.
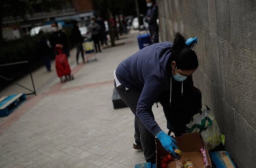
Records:
[[[146,14],[145,22],[148,22],[148,29],[151,35],[152,44],[159,43],[159,28],[157,24],[158,6],[155,0],[146,0],[148,12]]]

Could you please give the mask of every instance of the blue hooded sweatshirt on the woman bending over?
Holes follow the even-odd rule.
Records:
[[[171,76],[166,72],[172,42],[147,46],[122,61],[116,69],[118,81],[126,88],[140,89],[136,114],[143,125],[156,136],[161,128],[149,111],[164,90],[170,88]]]

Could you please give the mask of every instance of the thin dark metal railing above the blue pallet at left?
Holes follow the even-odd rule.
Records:
[[[27,64],[27,63],[28,63],[28,61],[20,61],[20,62],[14,62],[14,63],[9,63],[9,64],[2,64],[2,65],[0,65],[0,67],[11,66],[11,65],[17,65],[17,64]],[[5,76],[2,76],[2,75],[0,75],[0,77],[1,77],[2,79],[7,80],[8,82],[12,82],[12,83],[15,84],[15,85],[18,85],[18,86],[20,86],[20,87],[22,87],[22,88],[24,88],[24,89],[26,89],[26,90],[28,90],[28,91],[31,91],[31,93],[26,93],[25,95],[36,95],[36,89],[35,89],[35,85],[34,85],[34,81],[33,81],[33,77],[32,77],[32,73],[31,73],[30,68],[29,68],[29,73],[30,73],[30,78],[31,78],[31,81],[32,81],[32,85],[33,85],[33,89],[34,89],[34,90],[31,90],[31,89],[29,89],[29,88],[27,88],[27,87],[25,87],[25,86],[23,86],[23,85],[20,85],[20,84],[17,83],[17,82],[14,82],[13,79],[8,79],[8,78],[6,78]]]

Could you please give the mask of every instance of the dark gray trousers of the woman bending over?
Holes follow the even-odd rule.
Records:
[[[117,90],[117,93],[123,100],[123,102],[130,107],[131,111],[135,115],[134,128],[135,134],[134,138],[137,143],[141,143],[142,149],[144,151],[144,157],[146,162],[151,162],[155,164],[156,153],[155,153],[155,136],[145,128],[142,122],[138,119],[136,115],[137,104],[141,94],[141,90],[137,89],[128,89],[123,85],[116,87],[116,82],[114,86]],[[152,110],[150,111],[151,115],[154,117]]]

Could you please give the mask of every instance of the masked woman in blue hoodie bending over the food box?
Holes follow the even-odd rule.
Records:
[[[197,38],[186,41],[177,32],[173,43],[147,46],[122,61],[114,71],[114,87],[135,115],[133,148],[143,149],[146,162],[155,163],[155,136],[168,152],[178,149],[176,141],[158,126],[152,106],[159,100],[167,116],[179,117],[173,119],[178,121],[175,124],[185,125],[190,112],[183,113],[181,109],[191,105],[191,75],[198,67],[197,55],[189,48],[193,42]],[[180,111],[173,111],[173,106]]]

